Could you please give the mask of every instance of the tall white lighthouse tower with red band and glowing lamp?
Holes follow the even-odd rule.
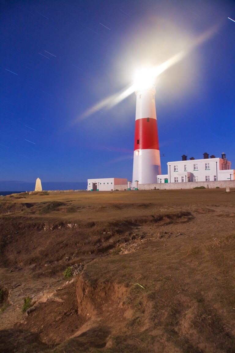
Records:
[[[135,80],[136,116],[132,182],[156,184],[161,174],[155,107],[155,85],[150,71],[138,73]]]

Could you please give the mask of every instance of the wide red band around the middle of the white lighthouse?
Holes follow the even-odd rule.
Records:
[[[156,119],[143,118],[135,121],[134,150],[139,149],[159,150]]]

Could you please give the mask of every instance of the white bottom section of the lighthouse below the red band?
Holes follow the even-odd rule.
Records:
[[[157,175],[161,174],[159,150],[135,150],[132,181],[139,184],[156,184]]]

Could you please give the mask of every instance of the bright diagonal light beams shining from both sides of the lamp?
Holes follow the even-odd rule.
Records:
[[[179,61],[184,59],[193,49],[204,43],[206,40],[208,40],[212,35],[215,34],[216,30],[218,29],[218,25],[214,25],[211,28],[209,28],[206,32],[201,34],[199,37],[194,40],[194,42],[188,46],[188,48],[185,48],[184,50],[181,50],[181,52],[175,54],[172,56],[172,58],[168,59],[167,61],[163,62],[159,66],[151,67],[148,69],[148,81],[149,77],[151,76],[151,81],[154,81],[154,78],[159,76],[162,72],[166,71],[169,67],[177,64]],[[145,73],[147,72],[147,69],[144,69]],[[145,85],[147,82],[145,82]],[[148,82],[149,84],[149,82]],[[89,108],[84,112],[78,119],[75,119],[75,121],[78,120],[83,120],[87,118],[89,115],[92,115],[95,110],[100,110],[102,108],[107,108],[110,109],[122,100],[124,100],[126,97],[131,95],[135,90],[138,89],[136,87],[136,83],[132,82],[131,85],[123,89],[122,91],[119,91],[117,94],[113,94],[107,98],[105,98],[103,101],[95,104],[92,108]]]

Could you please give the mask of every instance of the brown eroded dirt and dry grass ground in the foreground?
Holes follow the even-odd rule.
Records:
[[[7,196],[0,352],[234,352],[234,251],[235,189]]]

